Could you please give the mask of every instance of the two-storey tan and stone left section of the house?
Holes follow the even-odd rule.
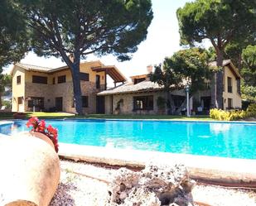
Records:
[[[47,68],[17,63],[12,69],[12,112],[63,111],[75,113],[73,83],[67,66]],[[80,84],[84,113],[104,113],[107,75],[115,83],[126,81],[115,66],[100,61],[80,64]]]

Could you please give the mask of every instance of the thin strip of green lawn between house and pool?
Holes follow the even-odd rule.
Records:
[[[85,116],[75,115],[71,113],[26,113],[25,118],[39,117],[41,119],[52,119],[52,118],[105,118],[105,119],[166,119],[166,120],[203,120],[210,121],[211,119],[208,115],[198,115],[193,117],[186,116],[175,116],[175,115],[109,115],[109,114],[89,114]],[[0,119],[12,119],[13,113],[0,113]]]

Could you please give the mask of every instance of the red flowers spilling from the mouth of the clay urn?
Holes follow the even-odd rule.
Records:
[[[56,152],[59,151],[58,130],[55,127],[51,127],[51,125],[46,127],[46,122],[44,120],[39,121],[37,117],[31,117],[26,125],[27,127],[32,127],[31,132],[41,132],[49,137],[55,147]]]

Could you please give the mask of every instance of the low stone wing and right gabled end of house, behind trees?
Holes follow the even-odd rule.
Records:
[[[212,62],[210,65],[215,66],[216,63]],[[224,91],[222,108],[241,108],[241,76],[239,70],[234,67],[230,60],[225,60],[223,65]],[[148,68],[147,71],[147,74],[132,76],[132,82],[130,83],[98,93],[98,96],[104,96],[105,113],[162,113],[165,108],[162,108],[159,104],[159,99],[165,99],[165,93],[161,86],[150,81],[149,74],[152,72],[152,67]],[[190,98],[190,108],[198,113],[209,113],[210,108],[212,108],[211,95],[213,88],[210,85],[210,80],[205,79],[205,84],[207,85],[207,89],[198,91],[193,98]],[[180,108],[181,103],[183,103],[186,98],[185,90],[175,90],[171,95],[176,108]]]

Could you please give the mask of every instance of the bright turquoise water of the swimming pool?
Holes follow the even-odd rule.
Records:
[[[0,133],[27,131],[27,121],[0,125]],[[256,123],[129,120],[46,120],[59,141],[203,156],[256,159]]]

